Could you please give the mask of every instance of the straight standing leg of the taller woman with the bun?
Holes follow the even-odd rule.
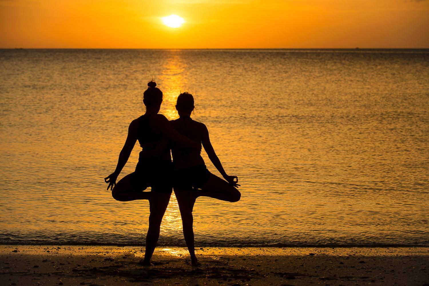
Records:
[[[146,235],[145,265],[151,265],[152,254],[154,254],[160,236],[161,221],[171,196],[171,193],[151,193],[151,215],[149,216],[149,229]]]

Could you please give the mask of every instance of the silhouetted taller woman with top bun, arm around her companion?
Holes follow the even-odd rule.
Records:
[[[158,114],[162,99],[162,91],[156,87],[155,81],[150,81],[148,89],[143,93],[146,112],[130,123],[127,139],[119,154],[115,172],[104,179],[109,184],[107,189],[112,190],[113,198],[118,201],[149,200],[151,214],[146,235],[145,265],[151,265],[150,260],[160,234],[160,224],[172,192],[170,149],[166,145],[160,149],[158,145],[161,139],[166,137],[183,147],[200,147],[199,143],[180,135],[171,127],[164,115]],[[116,184],[116,179],[127,163],[137,140],[142,147],[142,152],[140,152],[136,170]],[[158,150],[157,155],[150,155],[151,150],[154,149]],[[145,152],[148,152],[149,155],[146,155]],[[151,192],[142,192],[149,186],[152,189]]]

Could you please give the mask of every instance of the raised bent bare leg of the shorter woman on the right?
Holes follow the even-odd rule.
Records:
[[[239,190],[211,173],[207,183],[194,193],[196,197],[205,196],[227,202],[238,202],[241,198]]]

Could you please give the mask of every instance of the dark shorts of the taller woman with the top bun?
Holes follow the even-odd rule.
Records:
[[[138,190],[151,187],[152,192],[171,193],[173,165],[171,161],[137,163],[136,170],[130,174],[130,184]]]

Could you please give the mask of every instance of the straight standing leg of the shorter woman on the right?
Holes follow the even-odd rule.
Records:
[[[182,226],[183,226],[183,236],[185,238],[186,246],[189,250],[190,260],[192,265],[196,266],[198,264],[198,259],[195,256],[195,242],[193,235],[193,216],[192,210],[195,203],[195,196],[193,196],[193,191],[190,190],[181,190],[174,189],[174,194],[177,198],[179,204],[180,215],[182,217]]]

